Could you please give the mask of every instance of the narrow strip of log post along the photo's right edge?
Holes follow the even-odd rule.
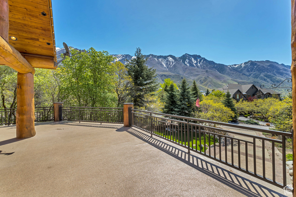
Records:
[[[292,50],[292,123],[293,123],[293,196],[296,197],[296,0],[291,0],[291,50]],[[285,186],[285,185],[284,185]]]

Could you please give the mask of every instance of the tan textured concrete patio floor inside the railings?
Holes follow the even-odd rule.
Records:
[[[284,190],[120,124],[0,127],[0,196],[286,196]]]

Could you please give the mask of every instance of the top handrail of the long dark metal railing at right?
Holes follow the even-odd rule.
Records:
[[[292,137],[292,133],[287,133],[287,132],[283,132],[283,131],[274,131],[274,130],[269,130],[269,129],[262,129],[262,128],[255,128],[255,127],[234,125],[234,124],[230,124],[230,123],[222,123],[222,122],[208,121],[208,120],[203,120],[203,119],[198,119],[198,118],[190,118],[190,117],[184,117],[184,116],[178,116],[178,115],[170,115],[170,114],[163,114],[163,113],[157,113],[157,112],[149,112],[149,111],[144,111],[144,110],[135,110],[135,109],[131,109],[131,110],[133,110],[133,111],[139,111],[139,112],[144,112],[144,113],[151,113],[151,114],[163,115],[163,116],[168,116],[168,117],[174,117],[174,118],[180,118],[180,119],[186,119],[186,120],[192,120],[192,121],[197,121],[197,122],[205,122],[205,123],[211,123],[211,124],[219,124],[219,125],[229,126],[229,127],[234,127],[234,128],[241,128],[241,129],[246,129],[246,130],[251,130],[251,131],[260,131],[260,132],[271,133],[271,134],[275,134],[275,135]]]

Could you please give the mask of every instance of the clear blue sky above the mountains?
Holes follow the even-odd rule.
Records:
[[[52,1],[57,47],[291,64],[291,1]]]

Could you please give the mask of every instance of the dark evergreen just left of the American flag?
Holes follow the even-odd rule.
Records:
[[[183,79],[179,85],[179,92],[177,98],[177,109],[178,115],[190,116],[192,107],[194,105],[194,99],[192,97],[190,88],[186,79]]]

